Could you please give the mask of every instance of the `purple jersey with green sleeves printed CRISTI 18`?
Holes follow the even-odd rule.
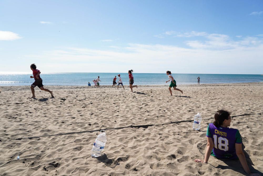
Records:
[[[206,136],[214,142],[213,154],[216,158],[237,159],[235,143],[242,144],[242,138],[237,129],[216,127],[210,123],[206,130]]]

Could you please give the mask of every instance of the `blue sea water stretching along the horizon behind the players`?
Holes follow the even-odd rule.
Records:
[[[100,76],[100,85],[112,85],[114,76],[119,73],[41,73],[43,85],[87,85]],[[120,73],[123,84],[129,84],[128,73]],[[0,73],[0,86],[10,85],[31,85],[34,78],[30,78],[30,73]],[[262,75],[242,75],[242,74],[172,74],[177,84],[197,84],[197,77],[200,77],[200,84],[212,83],[245,83],[263,82]],[[134,85],[162,85],[168,80],[165,73],[133,73]]]

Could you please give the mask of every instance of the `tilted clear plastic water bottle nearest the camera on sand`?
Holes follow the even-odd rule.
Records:
[[[92,157],[98,157],[102,153],[106,141],[107,141],[107,137],[105,130],[100,130],[100,134],[97,136],[91,150]]]

